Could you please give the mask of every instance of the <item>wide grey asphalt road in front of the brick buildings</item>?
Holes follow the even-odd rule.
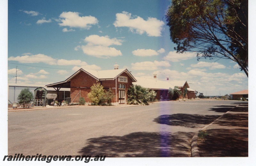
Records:
[[[188,157],[198,129],[240,101],[8,112],[8,155]]]

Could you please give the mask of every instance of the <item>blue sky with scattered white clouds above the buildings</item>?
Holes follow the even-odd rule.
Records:
[[[204,95],[248,89],[230,60],[177,54],[166,26],[170,1],[8,1],[8,83],[47,85],[81,67],[127,68],[133,76],[186,80]],[[175,86],[175,85],[174,85]]]

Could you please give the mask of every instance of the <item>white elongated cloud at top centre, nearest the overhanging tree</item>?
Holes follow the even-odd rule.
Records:
[[[132,18],[131,13],[123,11],[122,13],[116,13],[116,21],[113,24],[115,27],[129,27],[131,32],[143,34],[147,33],[148,36],[161,36],[163,30],[164,21],[156,18],[148,18],[144,20],[137,16]]]

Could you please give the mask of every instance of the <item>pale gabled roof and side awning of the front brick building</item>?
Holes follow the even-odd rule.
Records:
[[[126,73],[131,79],[132,82],[136,82],[137,80],[132,76],[132,74],[127,69],[113,69],[113,70],[84,70],[79,69],[77,72],[75,72],[73,75],[68,77],[65,81],[53,83],[46,85],[46,87],[70,87],[70,80],[74,78],[77,74],[80,72],[85,72],[94,79],[101,81],[101,80],[114,80],[116,77],[120,76],[122,73]]]

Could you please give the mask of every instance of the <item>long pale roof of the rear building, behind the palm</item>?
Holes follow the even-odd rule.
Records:
[[[167,90],[169,88],[174,88],[169,81],[161,81],[157,79],[147,79],[142,77],[136,77],[137,82],[133,83],[135,85],[140,85],[141,87],[150,88],[150,89],[160,89]]]

